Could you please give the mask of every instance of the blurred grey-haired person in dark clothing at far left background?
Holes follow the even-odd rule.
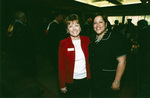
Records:
[[[10,32],[10,27],[8,29]],[[11,23],[11,32],[8,33],[9,49],[8,54],[16,63],[17,68],[29,77],[36,76],[35,65],[35,42],[33,32],[27,23],[26,15],[17,11]]]

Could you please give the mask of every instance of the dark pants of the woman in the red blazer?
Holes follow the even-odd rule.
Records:
[[[73,80],[73,84],[66,84],[67,93],[61,94],[61,98],[89,98],[90,80]]]

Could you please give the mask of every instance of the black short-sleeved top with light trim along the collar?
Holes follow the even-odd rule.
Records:
[[[116,58],[126,54],[126,40],[121,33],[107,32],[99,42],[89,45],[90,66],[94,73],[106,70],[116,70]]]

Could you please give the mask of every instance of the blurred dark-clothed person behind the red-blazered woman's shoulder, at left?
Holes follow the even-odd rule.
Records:
[[[54,13],[54,20],[48,24],[47,27],[47,49],[46,54],[51,59],[53,69],[56,73],[58,73],[58,48],[59,48],[59,41],[62,37],[62,14],[61,13]]]

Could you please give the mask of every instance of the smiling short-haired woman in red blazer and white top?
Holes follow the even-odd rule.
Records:
[[[66,18],[70,36],[60,41],[58,52],[59,86],[67,98],[89,97],[88,37],[80,36],[79,17],[71,14]]]

